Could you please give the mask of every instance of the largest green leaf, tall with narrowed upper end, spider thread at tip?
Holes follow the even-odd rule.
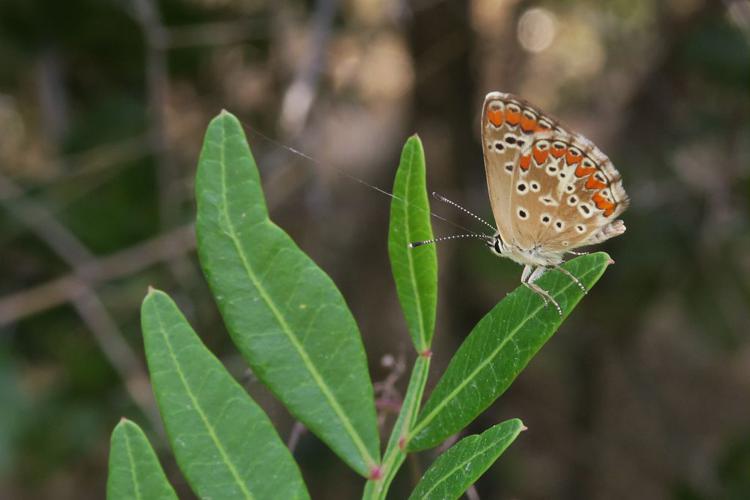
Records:
[[[201,265],[235,344],[297,419],[368,476],[379,438],[359,329],[333,281],[269,219],[227,112],[206,131],[196,196]]]

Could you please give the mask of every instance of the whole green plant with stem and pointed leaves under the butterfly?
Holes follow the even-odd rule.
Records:
[[[196,195],[201,265],[237,348],[289,411],[366,479],[363,498],[385,498],[413,451],[434,447],[474,420],[523,370],[582,297],[561,273],[541,285],[559,316],[524,287],[474,327],[424,407],[437,303],[424,152],[411,137],[391,204],[389,256],[417,358],[381,458],[373,387],[357,324],[331,279],[268,216],[239,121],[222,112],[208,127]],[[609,257],[565,264],[587,288]],[[297,464],[265,413],[201,343],[174,302],[150,290],[142,307],[146,357],[177,463],[206,498],[308,498]],[[469,436],[427,470],[412,498],[456,498],[524,429],[518,419]],[[174,498],[140,429],[112,434],[108,498]]]

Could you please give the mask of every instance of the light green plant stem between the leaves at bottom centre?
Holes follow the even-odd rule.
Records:
[[[424,388],[427,384],[429,368],[429,354],[420,355],[414,362],[414,368],[412,368],[411,377],[409,378],[409,387],[406,390],[406,397],[401,405],[401,411],[393,426],[388,446],[383,455],[381,476],[379,479],[370,479],[367,481],[365,491],[362,494],[363,500],[384,499],[393,478],[396,477],[401,464],[404,463],[406,453],[402,449],[405,445],[403,439],[409,434],[417,420],[422,394],[424,394]]]

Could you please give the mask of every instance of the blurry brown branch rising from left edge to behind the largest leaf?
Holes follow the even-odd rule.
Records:
[[[74,273],[1,297],[0,326],[72,301],[85,293],[86,285],[95,287],[130,276],[159,262],[183,256],[194,248],[193,225],[188,224],[107,257],[88,261]]]

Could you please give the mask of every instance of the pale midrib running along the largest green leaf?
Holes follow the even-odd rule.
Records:
[[[220,161],[219,165],[221,168],[221,211],[224,215],[224,219],[228,225],[229,232],[227,233],[228,236],[232,239],[232,243],[234,244],[235,250],[237,251],[240,260],[242,261],[242,265],[247,272],[248,277],[253,282],[253,285],[258,290],[258,293],[263,298],[264,302],[268,306],[268,308],[273,313],[277,323],[279,326],[281,326],[282,331],[286,335],[286,337],[289,339],[292,346],[297,351],[297,354],[302,358],[302,362],[307,369],[307,371],[310,373],[312,378],[314,379],[316,385],[319,387],[320,391],[325,396],[328,403],[333,408],[334,413],[336,414],[336,417],[341,421],[342,425],[346,429],[347,434],[349,434],[352,442],[357,447],[357,450],[359,451],[362,458],[364,458],[364,462],[366,465],[372,467],[376,463],[376,461],[370,456],[370,453],[367,451],[367,447],[365,446],[364,442],[361,440],[359,434],[354,429],[354,426],[349,421],[346,413],[343,411],[343,409],[339,406],[338,401],[334,397],[333,393],[329,389],[328,385],[325,383],[323,378],[321,377],[320,373],[318,373],[317,369],[315,368],[315,365],[310,360],[307,352],[304,350],[302,345],[299,343],[297,338],[294,336],[294,333],[292,332],[291,328],[287,324],[286,320],[284,319],[283,315],[281,314],[281,311],[276,307],[276,303],[271,299],[271,297],[266,292],[266,289],[263,287],[263,285],[258,281],[255,272],[253,271],[253,267],[250,265],[250,262],[248,261],[247,257],[245,256],[244,249],[239,241],[239,238],[237,237],[237,231],[234,227],[234,224],[232,222],[231,217],[229,216],[228,212],[228,198],[227,198],[227,175],[226,175],[226,158],[225,158],[225,145],[226,145],[226,130],[225,130],[226,124],[224,121],[222,121],[221,126],[221,144],[219,145],[219,156]],[[266,219],[268,216],[266,215]]]

